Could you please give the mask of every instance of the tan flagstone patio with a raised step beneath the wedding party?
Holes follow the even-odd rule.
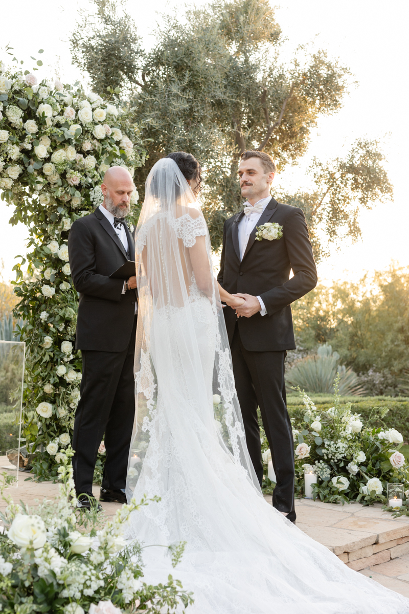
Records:
[[[15,475],[15,467],[0,456],[0,473]],[[58,495],[58,484],[25,481],[20,472],[18,486],[9,486],[5,494],[15,502],[35,506],[42,499]],[[99,486],[93,493],[98,498]],[[271,495],[265,499],[271,503]],[[102,503],[103,513],[111,518],[119,503]],[[6,503],[0,500],[0,511]],[[308,499],[296,500],[297,527],[329,548],[348,567],[372,577],[383,586],[409,597],[409,517],[393,519],[381,505],[364,507],[360,503],[334,505]]]

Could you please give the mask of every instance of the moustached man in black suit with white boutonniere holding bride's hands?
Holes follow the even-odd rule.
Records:
[[[316,286],[317,274],[304,213],[270,196],[275,171],[267,153],[242,153],[239,179],[247,202],[224,223],[218,281],[245,299],[235,312],[224,308],[224,317],[251,461],[261,483],[259,406],[277,476],[273,507],[294,522],[294,443],[284,361],[286,351],[296,348],[290,305]],[[282,237],[258,241],[256,227],[265,223],[279,225]]]

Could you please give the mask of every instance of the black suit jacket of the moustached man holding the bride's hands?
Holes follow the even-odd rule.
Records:
[[[283,227],[283,237],[256,241],[254,227],[240,262],[239,222],[243,216],[243,212],[237,213],[224,223],[218,281],[232,294],[261,297],[267,315],[239,317],[240,339],[248,351],[295,349],[290,304],[315,288],[318,281],[304,213],[272,198],[256,226],[277,222]],[[294,277],[289,279],[291,269]],[[225,307],[223,312],[231,343],[237,317],[231,307]]]

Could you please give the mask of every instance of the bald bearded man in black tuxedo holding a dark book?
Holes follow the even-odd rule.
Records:
[[[101,506],[92,485],[98,448],[105,433],[105,467],[100,501],[126,503],[128,452],[134,424],[134,351],[137,323],[136,276],[110,274],[135,260],[126,224],[134,190],[131,174],[112,166],[101,185],[103,203],[72,224],[69,263],[80,295],[75,349],[82,352],[81,398],[72,448],[78,507]]]

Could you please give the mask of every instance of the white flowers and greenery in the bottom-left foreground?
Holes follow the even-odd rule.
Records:
[[[8,501],[1,515],[2,614],[172,613],[192,604],[191,594],[171,575],[164,585],[143,582],[141,548],[124,541],[129,514],[137,513],[147,500],[123,505],[102,528],[97,512],[75,515],[71,456],[67,448],[59,467],[63,484],[58,500],[44,500],[34,513]],[[174,567],[183,548],[184,544],[170,548]]]

